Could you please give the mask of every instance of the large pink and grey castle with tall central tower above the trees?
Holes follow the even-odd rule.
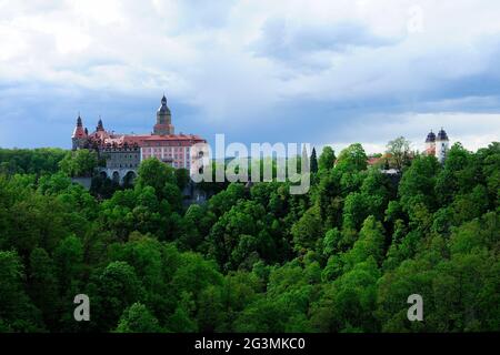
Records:
[[[96,150],[99,156],[106,160],[106,168],[100,168],[100,174],[119,183],[133,180],[140,162],[148,158],[157,158],[177,169],[190,170],[194,161],[200,159],[190,156],[191,146],[207,143],[199,135],[174,134],[171,112],[164,95],[157,111],[153,131],[149,134],[117,134],[104,130],[101,119],[96,130],[89,133],[88,129],[83,128],[79,114],[71,141],[73,150]]]

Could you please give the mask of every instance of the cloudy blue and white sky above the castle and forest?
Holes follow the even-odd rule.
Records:
[[[500,140],[497,0],[0,0],[0,146],[177,132],[369,152]]]

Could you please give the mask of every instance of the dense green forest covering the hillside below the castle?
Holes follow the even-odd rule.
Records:
[[[308,194],[232,183],[188,209],[157,160],[87,191],[73,155],[0,151],[0,332],[500,331],[500,143],[404,155],[396,181],[326,148]]]

